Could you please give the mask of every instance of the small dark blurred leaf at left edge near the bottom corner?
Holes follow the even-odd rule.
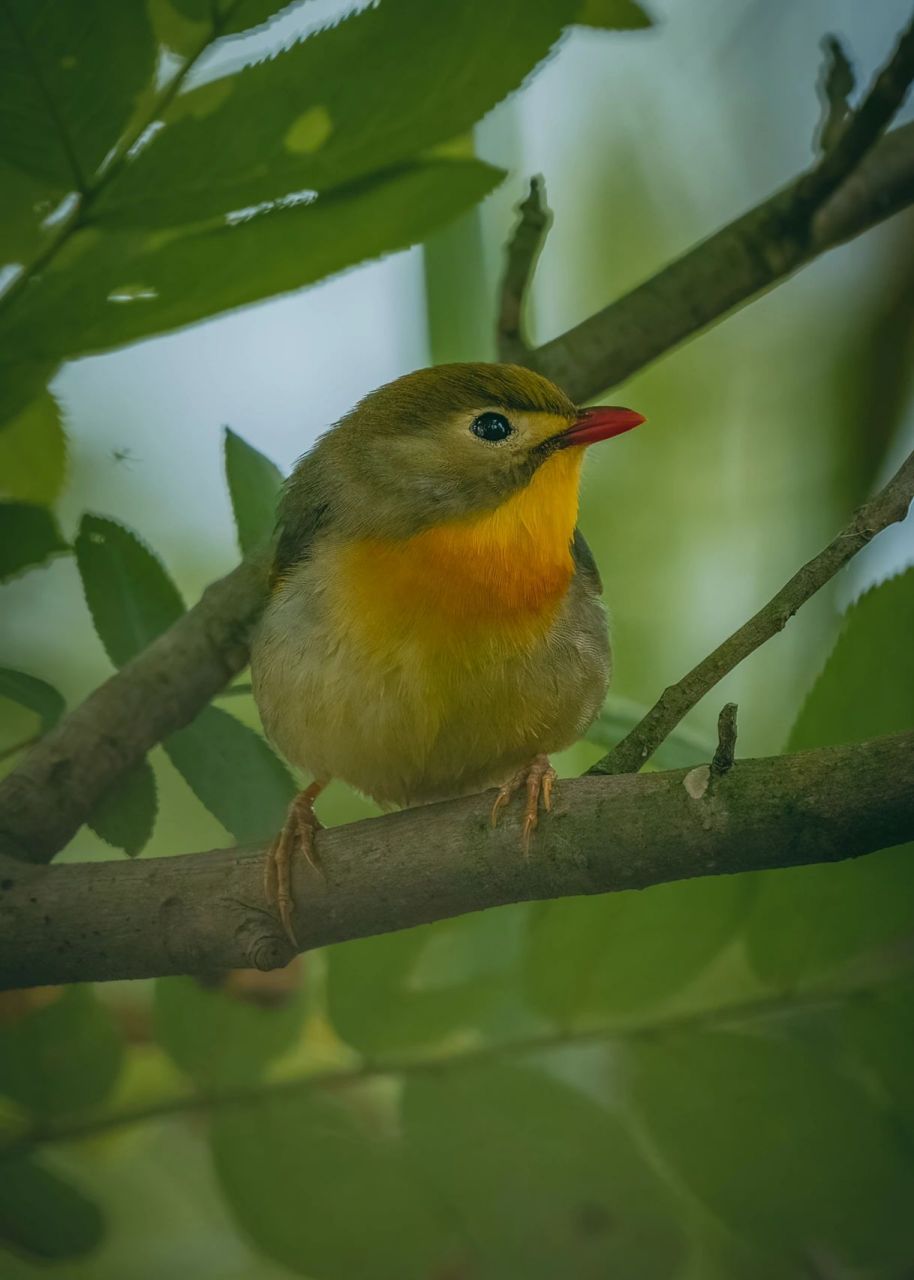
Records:
[[[29,1156],[0,1156],[0,1244],[47,1262],[95,1249],[104,1221],[92,1201]]]

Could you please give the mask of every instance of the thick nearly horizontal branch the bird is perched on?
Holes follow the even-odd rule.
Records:
[[[914,838],[914,733],[709,768],[561,782],[524,858],[518,809],[493,831],[472,796],[337,827],[323,870],[294,867],[305,948],[504,902],[854,858]],[[232,966],[289,945],[264,900],[264,850],[0,867],[8,987]]]

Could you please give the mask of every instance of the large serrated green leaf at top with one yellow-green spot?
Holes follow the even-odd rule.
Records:
[[[212,84],[183,95],[180,119],[101,195],[93,218],[179,225],[405,164],[517,88],[576,8],[384,0],[225,77],[218,97]]]

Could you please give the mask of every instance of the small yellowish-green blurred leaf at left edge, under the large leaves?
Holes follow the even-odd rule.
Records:
[[[67,472],[67,438],[58,402],[42,390],[0,431],[0,494],[49,506]]]

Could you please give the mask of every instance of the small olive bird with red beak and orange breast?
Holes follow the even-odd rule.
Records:
[[[605,698],[602,584],[577,529],[585,447],[644,421],[579,408],[518,365],[419,369],[365,396],[283,488],[251,650],[265,733],[312,781],[265,863],[289,942],[292,859],[339,778],[383,808],[522,790],[529,851],[549,755]]]

